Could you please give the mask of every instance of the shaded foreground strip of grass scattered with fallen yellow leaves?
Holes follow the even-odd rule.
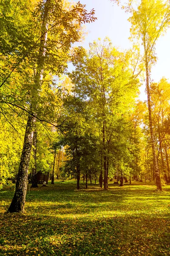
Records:
[[[166,215],[66,221],[62,217],[4,214],[0,220],[1,255],[163,256],[170,252]]]

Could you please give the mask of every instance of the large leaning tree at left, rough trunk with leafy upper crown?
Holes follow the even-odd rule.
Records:
[[[28,119],[16,190],[8,212],[24,212],[28,166],[33,139],[33,124],[36,119],[40,120],[43,81],[45,77],[50,76],[51,79],[48,79],[47,83],[50,86],[49,82],[52,80],[52,74],[59,75],[59,73],[65,70],[71,44],[80,38],[79,28],[81,23],[95,20],[94,10],[88,13],[85,10],[85,6],[80,3],[77,3],[75,6],[69,6],[69,4],[65,6],[62,1],[56,2],[53,0],[40,2],[32,14],[32,20],[35,17],[39,17],[38,26],[34,24],[35,32],[37,32],[36,36],[38,38],[39,32],[41,36],[37,39],[39,50],[35,49],[34,54],[31,55],[32,83],[26,102],[27,109],[24,108],[24,111],[28,113]],[[29,32],[31,35],[34,34],[32,29]],[[1,86],[11,77],[13,71],[20,66],[21,61],[26,60],[27,56],[29,57],[29,52],[23,55],[22,59],[14,65],[13,70],[2,82]],[[40,103],[39,108],[37,108],[37,102]],[[12,105],[11,102],[8,104]],[[20,108],[20,105],[17,105],[17,107]]]

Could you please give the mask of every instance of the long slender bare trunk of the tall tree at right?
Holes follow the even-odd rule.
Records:
[[[154,138],[153,138],[152,111],[151,111],[150,88],[149,88],[149,69],[148,69],[147,53],[146,53],[145,44],[144,44],[144,52],[145,52],[146,89],[147,89],[147,107],[148,107],[148,113],[149,113],[150,142],[151,142],[152,152],[153,152],[153,162],[154,162],[154,167],[155,167],[156,185],[157,185],[157,189],[162,190],[161,179],[160,179],[160,175],[159,175],[159,168],[158,168],[158,163],[157,163],[157,159],[156,159]]]

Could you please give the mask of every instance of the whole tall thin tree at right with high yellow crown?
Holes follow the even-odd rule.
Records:
[[[169,1],[161,0],[142,0],[137,9],[130,6],[129,11],[132,16],[129,18],[132,27],[133,37],[142,41],[144,48],[144,63],[146,72],[147,105],[149,113],[150,142],[153,151],[153,162],[156,174],[157,189],[161,188],[159,167],[156,160],[156,150],[153,137],[153,120],[150,102],[150,73],[151,67],[156,62],[155,45],[157,39],[166,31],[170,23],[170,4]]]

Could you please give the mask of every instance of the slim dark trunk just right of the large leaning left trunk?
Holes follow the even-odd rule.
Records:
[[[31,174],[31,188],[37,188],[37,131],[34,131],[33,134],[33,142],[32,142],[34,148],[33,148],[33,156],[34,156],[34,166],[32,168],[32,174]]]

